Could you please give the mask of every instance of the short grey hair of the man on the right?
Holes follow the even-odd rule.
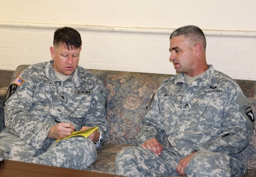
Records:
[[[192,43],[200,43],[204,49],[206,49],[206,36],[204,36],[203,31],[195,25],[187,25],[177,28],[170,34],[170,39],[175,36],[185,36],[185,38],[189,38]]]

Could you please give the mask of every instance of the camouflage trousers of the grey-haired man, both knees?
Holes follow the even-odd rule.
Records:
[[[160,156],[141,147],[126,147],[116,156],[116,173],[124,176],[179,176],[176,172],[181,157],[162,151]],[[224,153],[197,152],[185,173],[187,176],[241,176],[246,165]]]

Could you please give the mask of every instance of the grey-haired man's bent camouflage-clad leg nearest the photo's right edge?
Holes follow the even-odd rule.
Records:
[[[185,169],[187,176],[241,176],[243,171],[238,160],[220,152],[198,152]]]

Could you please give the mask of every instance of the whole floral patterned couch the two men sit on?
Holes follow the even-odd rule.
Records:
[[[12,74],[15,79],[27,65],[20,65]],[[107,112],[109,137],[93,165],[86,170],[115,174],[116,153],[125,146],[137,145],[135,136],[141,130],[141,120],[160,84],[170,75],[138,72],[121,72],[110,70],[90,70],[102,80],[108,92]],[[0,71],[1,76],[2,72]],[[10,79],[11,80],[11,79]],[[1,80],[0,80],[1,81]],[[254,112],[256,112],[256,81],[236,80],[248,96]],[[9,83],[11,81],[8,81]],[[1,84],[1,83],[0,83]],[[2,85],[0,85],[1,87]],[[0,88],[0,128],[4,127],[2,101],[8,85]],[[256,126],[255,126],[256,128]],[[0,129],[1,131],[1,129]],[[256,131],[252,135],[251,144],[256,149]],[[256,154],[248,162],[248,171],[244,176],[256,176]]]

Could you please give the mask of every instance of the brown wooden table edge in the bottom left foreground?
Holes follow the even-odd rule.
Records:
[[[13,160],[3,160],[0,162],[0,176],[1,177],[37,177],[37,176],[100,176],[113,177],[118,175],[110,175],[105,173],[89,172],[86,170],[75,170],[68,168],[59,168],[55,166],[39,165],[34,163],[17,162]]]

